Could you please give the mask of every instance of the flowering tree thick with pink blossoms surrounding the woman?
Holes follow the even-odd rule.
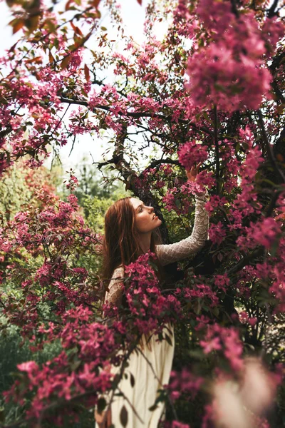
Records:
[[[30,424],[61,426],[80,412],[78,403],[97,402],[101,410],[101,394],[114,393],[140,334],[155,331],[171,342],[162,326],[176,321],[177,359],[157,398],[167,402],[165,424],[232,427],[235,419],[235,426],[281,426],[281,2],[151,1],[145,44],[138,46],[124,35],[115,1],[106,1],[120,52],[100,27],[98,1],[69,0],[61,14],[37,2],[9,4],[11,25],[22,36],[1,58],[1,172],[20,158],[38,167],[49,145],[103,130],[112,154],[98,168],[115,169],[128,190],[152,203],[165,243],[189,232],[192,195],[204,185],[211,225],[202,253],[180,270],[170,265],[165,287],[152,255],[129,266],[123,307],[106,306],[102,323],[94,257],[100,235],[86,227],[72,193],[63,202],[37,190],[41,204],[1,230],[1,250],[12,260],[3,272],[12,291],[1,302],[6,320],[21,326],[33,349],[57,342],[61,350],[41,365],[19,365],[7,401],[21,399]],[[158,41],[154,29],[163,21],[168,29]],[[145,148],[152,154],[140,170]],[[182,167],[200,161],[196,182],[185,183]],[[75,184],[71,175],[69,188]],[[113,378],[108,367],[119,362]],[[125,409],[121,419],[126,426]]]

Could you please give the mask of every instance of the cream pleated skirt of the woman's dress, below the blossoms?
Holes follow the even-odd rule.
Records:
[[[152,335],[146,343],[145,336],[142,336],[142,344],[138,345],[141,352],[133,351],[130,355],[129,366],[118,384],[118,390],[127,399],[114,395],[111,404],[112,424],[115,428],[157,428],[165,404],[159,402],[153,410],[150,407],[155,404],[158,389],[163,389],[170,380],[175,345],[172,325],[167,324],[162,334],[170,337],[172,345],[167,340],[157,341],[157,335]],[[120,367],[114,369],[114,374],[120,371]]]

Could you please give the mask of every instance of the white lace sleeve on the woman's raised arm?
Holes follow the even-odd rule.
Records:
[[[157,258],[163,266],[190,257],[204,247],[209,229],[209,213],[204,209],[205,203],[209,200],[207,191],[204,196],[195,196],[195,200],[195,222],[192,234],[179,243],[155,247]]]

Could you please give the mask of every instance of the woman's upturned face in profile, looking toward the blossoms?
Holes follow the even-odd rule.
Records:
[[[130,198],[135,210],[135,225],[139,233],[149,233],[158,228],[162,221],[155,215],[152,207],[147,207],[140,199]]]

